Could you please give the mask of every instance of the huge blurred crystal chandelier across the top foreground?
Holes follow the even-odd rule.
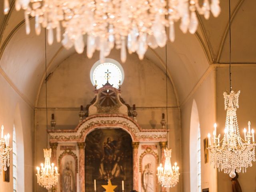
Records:
[[[180,20],[180,29],[194,34],[198,27],[196,14],[214,17],[220,14],[219,0],[15,0],[16,10],[25,12],[26,33],[30,33],[29,16],[35,17],[36,34],[41,27],[48,30],[48,44],[54,41],[76,52],[84,50],[84,35],[87,34],[87,56],[100,51],[100,58],[110,54],[114,45],[121,49],[121,60],[136,52],[140,59],[150,46],[157,48],[166,44],[165,27],[173,42],[174,22]],[[9,1],[4,0],[4,13],[9,11]],[[197,13],[196,13],[197,11]],[[61,26],[64,33],[61,32]],[[61,40],[61,34],[63,39]]]

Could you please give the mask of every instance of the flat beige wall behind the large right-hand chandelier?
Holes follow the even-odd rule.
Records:
[[[248,121],[251,122],[251,127],[256,129],[256,66],[255,64],[235,64],[231,67],[232,72],[232,87],[233,90],[241,90],[239,96],[239,108],[236,111],[238,126],[240,130],[240,135],[243,138],[244,127],[248,128]],[[223,136],[226,111],[224,110],[224,98],[223,92],[229,90],[229,71],[228,67],[220,67],[217,72],[218,80],[218,92],[217,92],[217,102],[218,102],[218,116],[217,123],[219,132]],[[238,181],[240,182],[242,191],[244,192],[255,192],[256,191],[256,162],[252,162],[252,167],[247,169],[247,172],[239,174]],[[232,183],[228,174],[219,173],[218,174],[218,191],[232,191]]]

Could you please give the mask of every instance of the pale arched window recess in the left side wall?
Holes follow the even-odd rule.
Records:
[[[20,117],[20,107],[17,104],[14,114],[14,126],[16,130],[16,144],[17,144],[17,191],[25,191],[24,180],[24,140],[23,140],[23,128]]]

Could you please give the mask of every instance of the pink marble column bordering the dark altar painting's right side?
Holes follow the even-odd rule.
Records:
[[[132,157],[133,157],[133,190],[139,191],[139,159],[138,148],[139,142],[132,142]]]

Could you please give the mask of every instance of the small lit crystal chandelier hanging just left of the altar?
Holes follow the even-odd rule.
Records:
[[[54,167],[54,163],[51,164],[52,149],[44,149],[44,164],[41,164],[41,168],[36,167],[37,170],[37,183],[45,187],[47,190],[51,189],[52,186],[58,183],[59,174],[58,168]]]

